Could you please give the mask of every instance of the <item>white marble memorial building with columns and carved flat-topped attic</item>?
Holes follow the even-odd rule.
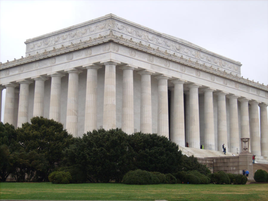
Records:
[[[268,156],[268,87],[237,61],[113,14],[25,44],[26,57],[0,65],[4,123],[43,116],[74,136],[121,127],[229,152],[250,138]]]

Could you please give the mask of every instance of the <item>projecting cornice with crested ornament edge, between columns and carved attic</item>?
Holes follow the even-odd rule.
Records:
[[[141,52],[146,52],[148,54],[155,55],[157,57],[161,57],[176,63],[180,63],[185,66],[189,66],[201,71],[208,72],[210,74],[214,74],[219,77],[226,78],[228,80],[236,81],[248,86],[252,86],[254,88],[258,88],[264,91],[268,91],[268,85],[262,85],[258,82],[254,82],[248,79],[244,79],[243,77],[239,77],[237,75],[233,75],[232,73],[227,73],[225,70],[221,71],[218,69],[214,69],[211,66],[206,66],[205,63],[199,63],[197,61],[192,61],[191,59],[187,59],[183,56],[178,57],[175,53],[170,54],[167,51],[162,51],[159,48],[155,49],[152,48],[150,45],[145,45],[141,41],[140,43],[137,43],[132,40],[132,38],[126,39],[121,36],[117,36],[113,34],[113,31],[110,30],[110,33],[108,35],[99,35],[97,38],[89,38],[89,40],[81,41],[79,43],[71,43],[68,46],[62,46],[61,48],[54,48],[53,50],[50,51],[44,51],[43,53],[38,53],[35,55],[29,55],[28,57],[22,57],[21,59],[14,59],[13,61],[8,61],[6,63],[0,63],[0,70],[6,69],[6,68],[11,68],[15,66],[19,66],[22,64],[27,64],[27,63],[32,63],[38,60],[43,60],[49,57],[54,57],[57,55],[61,54],[66,54],[69,52],[74,52],[80,49],[85,49],[88,47],[96,46],[102,43],[108,43],[108,42],[113,42],[113,43],[118,43],[123,46],[127,46],[132,49],[139,50]]]

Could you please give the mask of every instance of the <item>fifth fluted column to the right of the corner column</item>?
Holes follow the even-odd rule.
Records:
[[[199,106],[198,106],[198,88],[201,85],[189,84],[189,147],[200,147],[200,130],[199,130]]]

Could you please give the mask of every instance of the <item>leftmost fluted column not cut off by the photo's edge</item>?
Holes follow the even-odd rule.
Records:
[[[14,111],[15,111],[15,87],[17,84],[9,82],[4,84],[6,87],[6,99],[4,109],[4,124],[9,123],[14,126]]]

